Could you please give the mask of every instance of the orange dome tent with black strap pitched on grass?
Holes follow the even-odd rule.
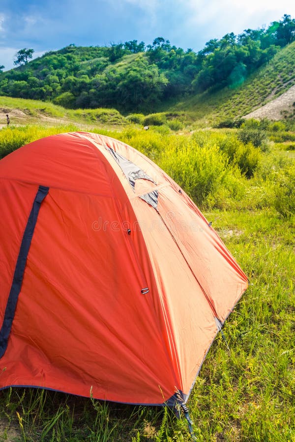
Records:
[[[0,387],[185,403],[247,277],[179,186],[68,133],[0,161],[0,207]]]

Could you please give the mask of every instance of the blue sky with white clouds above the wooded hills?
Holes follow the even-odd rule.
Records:
[[[13,67],[17,51],[35,56],[77,46],[104,46],[164,37],[199,51],[211,38],[261,28],[284,14],[295,18],[294,0],[0,0],[0,65]]]

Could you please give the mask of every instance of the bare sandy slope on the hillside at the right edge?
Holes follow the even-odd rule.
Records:
[[[244,115],[244,118],[268,118],[269,120],[281,120],[284,117],[284,112],[295,111],[295,85],[290,87],[287,92],[284,92],[278,98],[267,103],[256,111]]]

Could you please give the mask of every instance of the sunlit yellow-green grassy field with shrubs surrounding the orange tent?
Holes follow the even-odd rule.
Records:
[[[3,128],[0,155],[80,129]],[[197,440],[295,441],[295,133],[268,126],[267,138],[254,147],[242,142],[240,130],[90,129],[127,142],[166,170],[249,277],[224,326],[226,342],[215,339],[188,401]],[[2,440],[191,440],[186,421],[167,409],[29,388],[0,392],[0,418]]]

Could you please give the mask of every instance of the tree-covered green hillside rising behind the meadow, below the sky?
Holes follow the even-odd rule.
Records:
[[[0,95],[124,115],[173,108],[194,118],[243,115],[294,84],[294,40],[295,19],[285,14],[268,28],[209,40],[198,53],[163,37],[147,47],[69,45],[29,62],[21,50],[19,67],[0,73]]]

